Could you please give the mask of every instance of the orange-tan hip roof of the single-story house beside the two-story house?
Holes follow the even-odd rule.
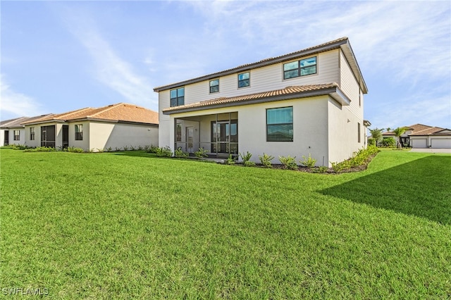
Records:
[[[118,103],[101,108],[81,108],[76,111],[69,111],[67,113],[51,114],[43,118],[29,123],[47,123],[50,121],[74,121],[74,120],[109,120],[115,122],[132,122],[132,123],[149,123],[158,124],[159,115],[156,111],[151,111],[147,108],[136,106],[134,104]]]

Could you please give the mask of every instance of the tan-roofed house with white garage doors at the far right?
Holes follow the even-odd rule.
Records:
[[[445,148],[451,149],[451,130],[423,124],[406,126],[407,130],[400,137],[403,146],[412,148]],[[393,132],[383,132],[383,137],[393,137]]]

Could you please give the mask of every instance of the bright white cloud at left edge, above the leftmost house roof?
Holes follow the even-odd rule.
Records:
[[[20,116],[35,116],[42,114],[41,105],[32,97],[11,89],[11,85],[5,80],[5,75],[0,75],[1,85],[1,119]]]

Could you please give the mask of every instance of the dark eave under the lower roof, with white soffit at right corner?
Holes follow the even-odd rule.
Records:
[[[302,99],[309,98],[314,96],[330,96],[332,99],[337,101],[339,104],[343,106],[348,106],[351,104],[351,101],[338,87],[331,87],[328,89],[320,89],[317,91],[308,91],[308,92],[297,92],[292,94],[285,95],[277,95],[277,96],[268,96],[262,97],[258,99],[249,99],[244,101],[230,101],[221,104],[211,104],[205,106],[194,106],[194,107],[186,107],[186,108],[178,108],[178,109],[170,109],[169,111],[163,110],[163,115],[172,115],[175,113],[189,113],[192,111],[205,111],[214,108],[225,108],[225,107],[233,107],[233,106],[243,106],[250,104],[261,104],[266,102],[274,102],[274,101],[283,101],[283,100],[291,100],[291,99]]]

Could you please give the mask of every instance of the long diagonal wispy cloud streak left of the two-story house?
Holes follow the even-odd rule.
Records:
[[[116,53],[89,13],[71,11],[70,15],[66,15],[65,22],[91,56],[96,80],[121,94],[127,102],[158,106],[158,97],[147,77],[137,74],[133,65]]]

